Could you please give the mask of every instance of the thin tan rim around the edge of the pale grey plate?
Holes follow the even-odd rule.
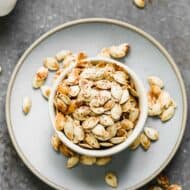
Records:
[[[137,32],[138,34],[140,34],[141,36],[143,36],[144,38],[146,38],[147,40],[149,40],[151,43],[153,43],[159,50],[160,52],[163,53],[163,55],[166,57],[166,59],[168,60],[168,62],[170,63],[170,65],[172,66],[174,72],[177,75],[178,81],[180,83],[180,87],[181,87],[181,92],[182,92],[182,98],[183,98],[183,118],[182,118],[182,123],[181,123],[181,131],[180,134],[178,136],[178,140],[177,143],[175,144],[172,152],[170,153],[170,155],[168,155],[168,158],[165,160],[165,162],[161,165],[160,168],[158,168],[156,171],[154,171],[154,173],[147,177],[145,180],[141,181],[140,183],[136,184],[135,186],[131,186],[128,188],[128,190],[134,190],[134,189],[138,189],[142,186],[144,186],[146,183],[148,183],[149,181],[151,181],[153,178],[155,178],[171,161],[171,159],[173,158],[173,156],[175,155],[181,141],[183,138],[183,134],[185,131],[185,127],[186,127],[186,120],[187,120],[187,96],[186,96],[186,91],[185,91],[185,86],[184,86],[184,82],[183,79],[181,77],[181,74],[179,72],[179,69],[177,67],[177,65],[175,64],[174,60],[172,59],[172,57],[169,55],[169,53],[166,51],[166,49],[157,41],[155,40],[152,36],[150,36],[149,34],[147,34],[146,32],[142,31],[141,29],[122,22],[122,21],[118,21],[118,20],[113,20],[113,19],[106,19],[106,18],[87,18],[87,19],[79,19],[79,20],[75,20],[75,21],[71,21],[71,22],[67,22],[65,24],[62,24],[58,27],[53,28],[52,30],[50,30],[49,32],[45,33],[44,35],[42,35],[40,38],[38,38],[22,55],[22,57],[19,59],[9,82],[8,85],[8,89],[7,89],[7,96],[6,96],[6,121],[7,121],[7,126],[8,126],[8,131],[9,131],[9,135],[11,137],[12,143],[18,153],[18,155],[21,157],[21,159],[23,160],[23,162],[25,163],[25,165],[38,177],[40,178],[42,181],[44,181],[46,184],[50,185],[53,188],[59,189],[59,190],[63,190],[65,189],[62,186],[59,186],[57,184],[55,184],[53,181],[50,181],[49,179],[47,179],[45,176],[43,176],[40,171],[38,171],[36,168],[33,167],[33,165],[27,160],[27,158],[25,157],[25,155],[23,154],[22,150],[20,149],[19,145],[17,144],[17,141],[15,139],[13,130],[12,130],[12,124],[11,124],[11,118],[10,118],[10,94],[12,91],[12,86],[13,86],[13,82],[16,78],[16,74],[19,70],[19,68],[22,66],[24,60],[26,59],[26,57],[28,56],[28,54],[30,54],[30,52],[36,47],[38,46],[38,44],[40,42],[42,42],[44,39],[48,38],[48,36],[54,34],[55,32],[73,26],[73,25],[77,25],[77,24],[82,24],[82,23],[110,23],[110,24],[115,24],[118,26],[122,26],[125,28],[128,28],[134,32]],[[66,190],[66,189],[65,189]]]

